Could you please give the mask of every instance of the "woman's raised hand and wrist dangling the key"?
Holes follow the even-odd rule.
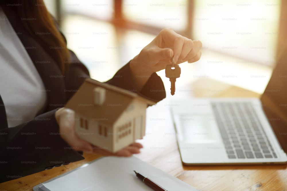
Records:
[[[174,58],[175,64],[196,62],[201,56],[199,40],[183,37],[170,28],[160,31],[154,40],[144,47],[130,62],[133,80],[140,90],[149,76],[166,68]]]

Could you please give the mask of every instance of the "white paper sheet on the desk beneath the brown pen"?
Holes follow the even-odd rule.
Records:
[[[133,170],[147,176],[166,190],[197,190],[134,156],[102,157],[43,185],[51,191],[153,191],[135,176]]]

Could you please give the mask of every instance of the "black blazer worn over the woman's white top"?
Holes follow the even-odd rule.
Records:
[[[85,77],[89,76],[87,68],[70,51],[72,63],[66,69],[65,75],[59,78],[51,77],[62,75],[53,60],[53,55],[47,54],[28,34],[21,20],[14,16],[13,11],[4,9],[4,12],[24,47],[34,47],[26,50],[48,90],[48,105],[45,111],[34,119],[16,127],[7,128],[5,103],[0,96],[0,182],[84,159],[80,152],[71,149],[60,137],[55,111],[59,107],[64,107],[73,95],[73,92],[67,92],[65,89],[78,89]],[[49,60],[50,63],[36,63],[39,60]],[[117,78],[112,78],[106,83],[137,92],[131,81],[129,63],[115,76]],[[152,91],[152,89],[161,91]],[[141,92],[137,93],[156,102],[165,98],[162,80],[156,73],[152,74]]]

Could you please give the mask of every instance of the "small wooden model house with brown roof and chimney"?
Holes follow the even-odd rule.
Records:
[[[117,152],[145,135],[146,108],[155,102],[87,78],[65,105],[75,111],[75,130],[96,147]]]

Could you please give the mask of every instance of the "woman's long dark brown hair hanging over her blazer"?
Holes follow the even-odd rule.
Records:
[[[55,19],[50,15],[43,0],[1,0],[1,3],[16,3],[20,6],[13,6],[19,18],[35,18],[22,20],[22,25],[28,33],[53,56],[62,73],[65,70],[65,61],[69,61],[69,50],[63,35],[59,32]],[[44,32],[47,35],[37,35],[37,32]],[[61,47],[61,48],[50,48]]]

